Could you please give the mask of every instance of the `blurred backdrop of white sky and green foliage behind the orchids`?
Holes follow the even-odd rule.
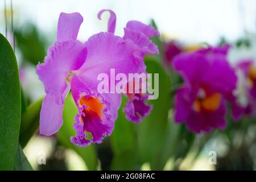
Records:
[[[10,1],[7,4],[7,38],[13,43],[11,32]],[[196,48],[209,44],[229,43],[237,49],[230,61],[238,57],[256,57],[256,1],[254,0],[127,0],[127,1],[32,1],[13,0],[13,26],[15,53],[19,65],[24,105],[38,105],[44,96],[43,84],[38,80],[35,66],[46,56],[47,48],[56,40],[57,19],[61,12],[79,12],[84,16],[78,39],[84,42],[89,36],[106,31],[108,13],[97,19],[98,11],[112,9],[117,15],[115,33],[123,35],[123,27],[129,20],[155,24],[161,33],[154,40],[163,48],[164,42],[175,40],[185,47]],[[5,35],[4,3],[0,4],[0,32]],[[164,61],[164,52],[158,57]],[[156,67],[156,68],[155,68]],[[184,125],[176,125],[172,119],[172,88],[175,79],[162,64],[148,65],[152,72],[164,75],[164,87],[160,100],[154,107],[166,106],[166,115],[156,109],[140,124],[126,121],[119,114],[112,137],[101,144],[79,148],[69,142],[73,135],[72,120],[76,108],[71,97],[67,98],[64,122],[67,125],[52,137],[27,133],[32,138],[22,144],[24,154],[32,168],[38,170],[88,170],[88,169],[256,169],[255,118],[243,118],[229,124],[225,131],[195,135]],[[171,84],[169,83],[171,82]],[[170,84],[170,85],[168,85]],[[34,107],[35,108],[35,107]],[[75,109],[74,109],[75,108]],[[161,109],[160,109],[161,110]],[[121,112],[119,112],[121,113]],[[28,115],[28,118],[31,117]],[[25,117],[26,118],[26,117]],[[38,116],[34,116],[38,121]],[[209,152],[217,152],[217,164],[209,163]],[[46,157],[46,164],[39,165]]]

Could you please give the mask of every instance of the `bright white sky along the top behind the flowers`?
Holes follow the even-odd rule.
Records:
[[[92,34],[106,31],[109,15],[105,13],[103,20],[98,20],[97,13],[101,9],[112,9],[117,14],[117,35],[123,35],[123,27],[129,20],[149,23],[154,18],[162,34],[189,43],[214,44],[220,36],[235,40],[245,31],[255,32],[256,23],[255,0],[13,0],[13,5],[16,27],[32,21],[50,38],[56,36],[61,12],[81,13],[84,23],[79,39],[82,41]],[[0,10],[3,10],[3,1]],[[0,15],[0,23],[0,32],[4,34],[3,15]]]

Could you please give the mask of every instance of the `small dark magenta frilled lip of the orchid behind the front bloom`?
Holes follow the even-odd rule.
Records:
[[[152,110],[152,105],[147,105],[146,100],[148,96],[146,94],[134,94],[134,96],[126,102],[126,106],[123,111],[126,114],[126,118],[132,122],[141,122]]]

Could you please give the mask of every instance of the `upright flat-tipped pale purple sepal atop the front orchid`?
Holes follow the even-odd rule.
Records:
[[[79,13],[61,13],[57,27],[57,41],[76,40],[83,21]]]

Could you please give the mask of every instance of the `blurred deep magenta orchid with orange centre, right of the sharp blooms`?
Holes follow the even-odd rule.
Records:
[[[207,48],[181,53],[174,59],[174,69],[184,85],[175,96],[175,121],[201,133],[226,126],[226,101],[236,88],[236,75],[226,60],[226,48]]]

